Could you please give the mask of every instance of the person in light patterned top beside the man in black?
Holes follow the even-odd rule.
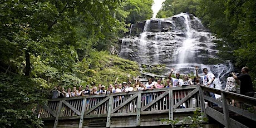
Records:
[[[235,78],[232,77],[231,73],[230,73],[229,77],[227,78],[227,83],[226,83],[226,87],[224,88],[224,90],[234,92],[234,93],[236,91],[236,89],[235,89]],[[231,104],[232,104],[232,106],[235,105],[235,100],[234,99],[231,99]]]

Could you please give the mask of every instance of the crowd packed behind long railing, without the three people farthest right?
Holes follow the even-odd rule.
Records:
[[[114,86],[110,84],[107,88],[105,88],[104,85],[99,84],[97,86],[92,86],[90,89],[90,85],[86,85],[85,90],[83,90],[82,86],[78,87],[78,90],[76,87],[73,87],[73,90],[71,91],[71,88],[68,88],[67,91],[65,91],[64,87],[57,86],[50,90],[52,92],[52,99],[55,98],[62,98],[62,97],[76,97],[76,96],[88,96],[88,95],[100,95],[100,94],[108,94],[108,93],[119,93],[119,92],[131,92],[131,91],[145,91],[145,90],[153,90],[154,88],[169,88],[169,87],[176,87],[176,86],[188,86],[188,85],[196,85],[200,84],[199,81],[196,81],[198,79],[192,79],[189,78],[188,75],[183,75],[183,79],[180,78],[180,74],[176,73],[176,78],[171,77],[171,74],[173,73],[174,68],[171,69],[171,73],[169,75],[169,79],[166,80],[166,83],[164,81],[164,78],[159,78],[157,81],[154,81],[154,77],[149,78],[146,83],[143,83],[139,80],[139,77],[135,78],[135,83],[132,84],[132,82],[122,82],[117,83],[117,79],[114,83]]]

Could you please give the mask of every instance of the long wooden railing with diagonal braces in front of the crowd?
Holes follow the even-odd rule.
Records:
[[[110,127],[113,116],[136,116],[136,126],[140,126],[140,115],[169,114],[173,120],[174,112],[194,111],[201,107],[200,86],[161,88],[129,93],[110,93],[63,99],[52,99],[40,107],[38,117],[43,120],[80,119],[107,117],[106,127]],[[204,106],[204,102],[203,102]]]

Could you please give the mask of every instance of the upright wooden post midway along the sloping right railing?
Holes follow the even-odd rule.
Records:
[[[222,97],[222,106],[223,106],[223,114],[224,114],[224,124],[226,128],[229,128],[230,120],[229,120],[227,98],[223,92],[221,92],[221,97]]]

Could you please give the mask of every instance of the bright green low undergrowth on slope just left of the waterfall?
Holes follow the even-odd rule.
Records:
[[[86,61],[82,61],[80,65],[86,65],[90,63],[90,72],[85,68],[85,77],[83,80],[90,83],[95,82],[96,85],[101,83],[102,85],[113,84],[117,77],[117,82],[128,81],[130,76],[139,76],[139,65],[137,62],[125,60],[115,55],[110,55],[108,52],[93,52],[90,53],[90,58]],[[82,69],[80,69],[82,70]]]

